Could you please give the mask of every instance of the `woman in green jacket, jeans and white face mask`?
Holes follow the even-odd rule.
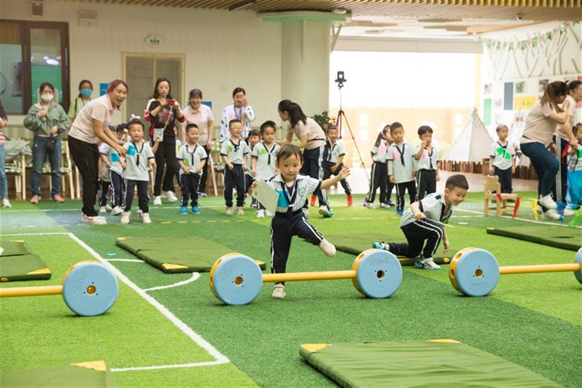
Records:
[[[61,133],[69,129],[69,117],[55,98],[55,87],[48,82],[40,85],[40,101],[30,107],[24,127],[34,133],[33,173],[30,177],[31,204],[40,200],[42,166],[47,159],[51,163],[52,190],[55,202],[65,202],[61,196]]]

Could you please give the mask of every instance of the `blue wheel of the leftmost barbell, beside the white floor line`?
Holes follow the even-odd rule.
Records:
[[[96,262],[81,262],[71,268],[63,281],[63,299],[77,315],[105,314],[119,294],[113,272]]]

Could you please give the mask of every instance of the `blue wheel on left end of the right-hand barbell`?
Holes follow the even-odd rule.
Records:
[[[467,296],[485,296],[499,282],[499,264],[495,256],[480,248],[459,251],[449,269],[453,286]]]

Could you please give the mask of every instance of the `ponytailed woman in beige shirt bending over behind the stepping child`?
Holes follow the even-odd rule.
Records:
[[[284,99],[279,102],[279,117],[281,120],[289,122],[288,132],[285,140],[279,141],[279,145],[291,143],[293,134],[299,138],[299,148],[303,150],[303,166],[300,173],[312,178],[322,180],[324,177],[323,161],[327,160],[328,148],[325,147],[325,132],[321,129],[320,124],[314,119],[308,118],[301,106],[296,102]],[[319,213],[329,218],[333,215],[329,206],[327,193],[325,190],[317,190],[314,194],[320,200]],[[304,206],[307,209],[307,201]]]

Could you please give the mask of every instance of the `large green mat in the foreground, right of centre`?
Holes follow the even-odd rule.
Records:
[[[455,340],[304,344],[299,354],[342,387],[560,387]]]

